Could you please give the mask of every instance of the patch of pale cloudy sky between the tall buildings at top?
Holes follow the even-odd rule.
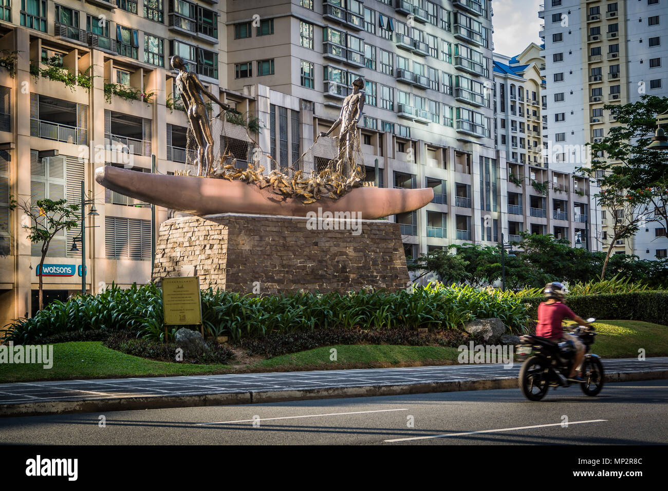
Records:
[[[538,17],[538,5],[545,0],[493,0],[494,53],[514,56],[530,42],[538,45],[538,29],[543,19]]]

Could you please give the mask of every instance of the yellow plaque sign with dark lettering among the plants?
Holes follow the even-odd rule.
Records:
[[[198,277],[162,279],[165,325],[202,324],[202,299]]]

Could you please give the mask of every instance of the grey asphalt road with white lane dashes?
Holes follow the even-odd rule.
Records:
[[[0,418],[0,443],[668,444],[667,420],[668,380],[655,380],[541,402],[502,389]]]

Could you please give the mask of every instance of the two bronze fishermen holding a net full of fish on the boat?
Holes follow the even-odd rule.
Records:
[[[179,60],[174,58],[178,57],[172,58],[172,66],[180,70],[176,86],[190,122],[183,174],[244,181],[267,196],[284,200],[295,198],[304,204],[323,198],[337,199],[352,188],[365,184],[365,166],[357,131],[365,103],[362,79],[353,81],[353,93],[343,101],[341,114],[329,131],[321,132],[306,152],[293,158],[292,166],[281,166],[274,156],[260,148],[248,131],[245,116],[218,101],[204,89],[194,73],[181,69]],[[188,84],[194,87],[190,92]],[[193,94],[196,97],[193,98]],[[209,120],[208,105],[204,104],[201,94],[206,94],[222,108],[220,114]],[[194,100],[190,110],[188,100]],[[236,124],[226,125],[222,118]],[[315,157],[313,148],[322,148],[319,140],[329,136],[337,127],[340,128],[338,138],[330,140],[334,157],[329,160]],[[215,142],[214,136],[218,135],[220,142]],[[264,174],[266,168],[261,162],[268,162],[269,174]],[[313,170],[305,173],[305,163],[310,162],[313,162]]]

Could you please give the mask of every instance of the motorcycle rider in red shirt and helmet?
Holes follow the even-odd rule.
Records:
[[[546,337],[557,343],[560,341],[572,341],[576,354],[568,379],[576,382],[584,382],[585,379],[580,377],[578,369],[580,369],[582,360],[585,359],[585,345],[578,337],[570,333],[564,333],[561,323],[564,319],[572,319],[579,325],[591,326],[566,306],[564,303],[566,293],[568,293],[568,290],[558,281],[545,285],[543,295],[547,300],[538,305],[536,335]]]

